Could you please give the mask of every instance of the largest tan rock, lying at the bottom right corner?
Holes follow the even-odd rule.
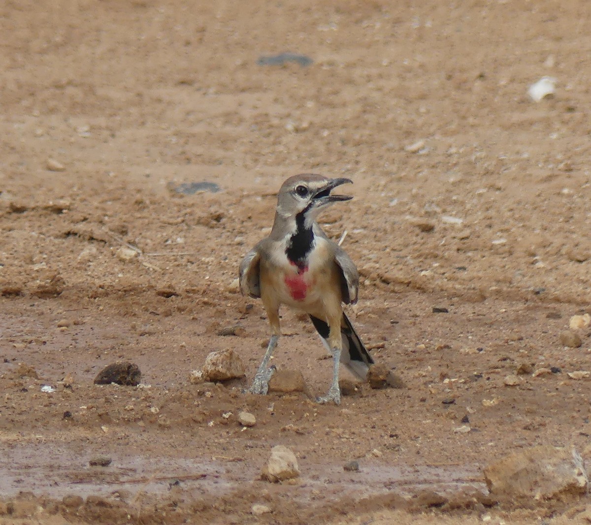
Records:
[[[487,465],[484,476],[491,495],[511,503],[587,492],[583,459],[574,449],[534,446]]]

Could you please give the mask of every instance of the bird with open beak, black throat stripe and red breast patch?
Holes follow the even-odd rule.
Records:
[[[268,237],[246,253],[239,270],[242,295],[261,298],[271,328],[267,351],[250,392],[267,394],[275,367],[269,361],[281,335],[279,311],[285,305],[309,315],[333,357],[333,377],[319,403],[340,403],[339,364],[365,380],[373,358],[343,311],[358,299],[355,263],[320,229],[316,219],[350,195],[332,194],[348,178],[300,174],[288,178],[277,195],[275,220]]]

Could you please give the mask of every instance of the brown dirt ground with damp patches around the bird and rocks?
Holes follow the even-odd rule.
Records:
[[[591,379],[568,375],[591,370],[591,329],[560,340],[591,302],[590,18],[586,0],[2,2],[0,523],[583,522],[586,498],[495,505],[482,468],[591,456]],[[313,63],[257,63],[284,52]],[[243,393],[269,334],[238,265],[298,172],[354,181],[321,223],[347,231],[348,312],[404,389]],[[175,190],[202,181],[220,191]],[[282,328],[275,364],[323,394],[313,328]],[[245,379],[191,384],[224,348]],[[117,360],[139,386],[93,384]],[[277,444],[295,482],[259,479]]]

